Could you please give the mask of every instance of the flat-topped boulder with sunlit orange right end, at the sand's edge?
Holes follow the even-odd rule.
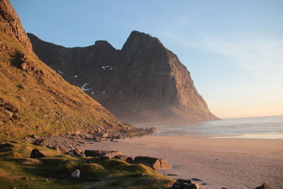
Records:
[[[158,159],[149,156],[137,156],[134,158],[134,164],[144,164],[146,166],[150,166],[155,170],[163,169],[163,168],[171,168],[171,165],[167,164],[166,159]]]

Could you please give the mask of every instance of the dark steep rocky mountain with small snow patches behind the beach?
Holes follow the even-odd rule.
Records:
[[[151,35],[133,31],[115,50],[106,41],[66,48],[28,34],[42,61],[127,122],[217,119],[197,93],[190,72]]]

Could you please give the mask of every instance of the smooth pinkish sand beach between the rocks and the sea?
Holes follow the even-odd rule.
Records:
[[[203,188],[255,188],[265,182],[283,188],[283,140],[212,139],[204,136],[144,136],[96,142],[84,149],[122,151],[165,158],[173,178],[199,178]]]

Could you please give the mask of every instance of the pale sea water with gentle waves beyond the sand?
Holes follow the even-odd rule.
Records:
[[[283,139],[283,116],[236,118],[188,126],[157,126],[158,135],[211,135],[231,138]]]

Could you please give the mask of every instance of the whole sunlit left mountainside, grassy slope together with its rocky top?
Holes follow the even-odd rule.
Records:
[[[0,137],[90,131],[137,134],[34,54],[16,11],[0,1]]]

